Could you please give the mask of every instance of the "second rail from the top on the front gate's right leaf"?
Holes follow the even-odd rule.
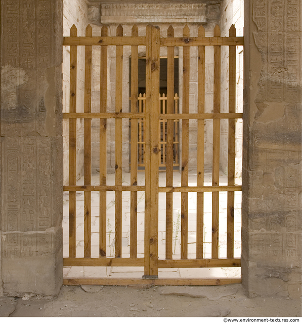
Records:
[[[241,119],[242,113],[169,113],[160,114],[160,119]]]

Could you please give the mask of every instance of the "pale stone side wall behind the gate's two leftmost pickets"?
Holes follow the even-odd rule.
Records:
[[[84,36],[88,25],[88,7],[85,0],[63,0],[63,35],[70,36],[70,28],[74,24],[77,35]],[[84,112],[84,55],[85,48],[77,48],[77,112]],[[69,112],[69,74],[70,74],[70,46],[63,47],[63,112]],[[64,145],[64,184],[68,185],[69,175],[69,121],[63,120]],[[76,178],[84,174],[84,120],[77,120],[76,136]]]

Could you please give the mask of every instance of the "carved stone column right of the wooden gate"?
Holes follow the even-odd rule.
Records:
[[[245,1],[242,284],[301,297],[301,4]]]

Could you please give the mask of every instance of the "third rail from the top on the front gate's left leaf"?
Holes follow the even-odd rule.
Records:
[[[136,185],[66,185],[63,186],[63,191],[68,192],[80,192],[80,191],[100,191],[100,192],[106,192],[106,191],[119,191],[119,192],[125,192],[125,191],[145,191],[145,186],[136,186]]]

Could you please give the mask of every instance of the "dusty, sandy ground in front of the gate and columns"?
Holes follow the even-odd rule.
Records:
[[[301,301],[225,286],[63,286],[57,298],[0,297],[2,317],[301,317]]]

